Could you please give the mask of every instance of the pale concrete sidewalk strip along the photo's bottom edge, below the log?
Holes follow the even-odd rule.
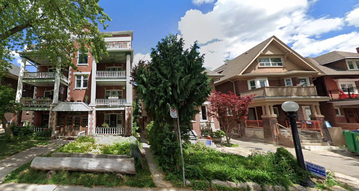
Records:
[[[83,186],[61,186],[61,185],[35,185],[9,183],[1,184],[1,191],[190,191],[182,188],[135,188],[135,187],[83,187]]]

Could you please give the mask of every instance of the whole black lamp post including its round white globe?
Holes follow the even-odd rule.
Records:
[[[295,115],[295,112],[298,111],[299,105],[298,103],[287,101],[282,104],[282,109],[288,113],[288,115],[286,115],[285,117],[289,118],[290,127],[292,128],[295,155],[297,155],[297,161],[299,163],[299,166],[302,169],[307,170],[306,163],[304,162],[302,146],[300,145],[299,134],[296,124],[296,119],[298,118],[298,116]],[[316,186],[316,184],[308,176],[306,177],[306,180],[304,182],[300,183],[300,185],[306,187]]]

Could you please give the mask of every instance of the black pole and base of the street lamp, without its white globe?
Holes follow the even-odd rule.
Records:
[[[288,115],[285,117],[289,118],[290,126],[292,128],[292,136],[293,136],[293,143],[294,143],[294,149],[295,149],[295,155],[297,156],[297,161],[299,163],[299,166],[307,171],[306,163],[304,162],[304,156],[302,152],[302,145],[300,145],[300,139],[297,129],[297,123],[295,119],[298,118],[297,115],[295,115],[294,111],[288,112]],[[315,187],[316,184],[307,176],[306,180],[302,183],[300,183],[302,186],[309,186],[309,187]]]

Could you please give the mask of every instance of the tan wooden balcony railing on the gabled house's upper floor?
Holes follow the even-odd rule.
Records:
[[[269,86],[269,87],[256,88],[241,93],[242,97],[246,95],[253,95],[253,97],[256,98],[256,97],[265,97],[265,96],[317,96],[318,94],[315,86],[307,86],[307,87]]]

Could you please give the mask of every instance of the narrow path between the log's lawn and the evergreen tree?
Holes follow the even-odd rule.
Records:
[[[145,135],[143,132],[140,133],[141,143],[143,145],[143,149],[145,150],[145,157],[148,162],[148,167],[150,168],[151,175],[153,178],[153,182],[157,187],[173,187],[172,183],[169,181],[165,181],[163,172],[158,168],[157,163],[155,162],[152,152],[150,150],[150,145],[148,145],[147,140],[145,139]]]

